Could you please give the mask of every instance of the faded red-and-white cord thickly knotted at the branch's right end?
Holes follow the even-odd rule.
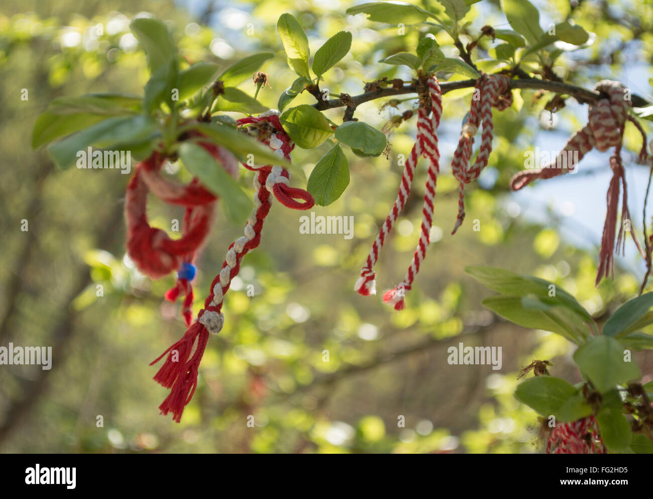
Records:
[[[575,169],[575,165],[581,161],[586,153],[592,148],[605,152],[614,147],[614,153],[610,158],[610,167],[613,170],[613,178],[607,192],[607,214],[605,224],[603,225],[603,235],[601,236],[601,250],[599,252],[599,265],[596,275],[596,285],[603,277],[614,275],[614,248],[617,204],[620,192],[620,184],[624,187],[622,197],[622,219],[618,237],[616,238],[616,248],[622,247],[624,243],[624,221],[630,223],[630,214],[628,212],[628,194],[626,191],[626,174],[622,165],[621,147],[624,137],[624,126],[626,120],[631,121],[643,136],[643,146],[639,153],[639,162],[646,163],[648,154],[646,153],[646,134],[637,120],[629,116],[628,112],[632,103],[627,99],[628,89],[620,82],[611,80],[602,80],[594,86],[594,89],[605,93],[607,98],[600,99],[594,105],[590,106],[589,119],[587,125],[572,135],[563,150],[558,153],[556,161],[542,169],[528,170],[519,172],[510,181],[510,188],[518,191],[535,179],[552,178],[565,174]],[[575,154],[577,153],[577,154]],[[644,251],[637,241],[634,231],[630,231],[635,246],[645,257]]]

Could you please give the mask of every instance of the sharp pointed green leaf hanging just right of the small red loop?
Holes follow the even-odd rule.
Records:
[[[321,206],[336,201],[349,185],[349,165],[340,144],[333,146],[315,165],[306,188]]]

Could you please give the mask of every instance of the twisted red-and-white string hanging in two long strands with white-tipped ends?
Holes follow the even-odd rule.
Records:
[[[372,249],[370,250],[366,264],[360,270],[360,277],[354,286],[355,291],[358,291],[358,293],[364,296],[374,295],[376,293],[374,265],[379,258],[379,252],[383,248],[385,239],[390,234],[390,231],[392,231],[397,217],[404,210],[406,200],[410,195],[417,161],[419,161],[421,156],[427,158],[429,160],[429,169],[426,180],[426,191],[424,193],[424,208],[422,208],[422,233],[419,245],[417,246],[417,251],[415,251],[415,257],[413,257],[413,261],[408,268],[404,282],[383,295],[383,301],[394,305],[396,310],[402,310],[404,308],[404,295],[411,288],[415,275],[419,272],[419,266],[426,255],[426,250],[428,250],[428,244],[430,242],[430,226],[433,219],[436,177],[439,172],[438,135],[436,130],[442,115],[442,92],[435,76],[428,78],[427,84],[430,103],[428,105],[422,105],[419,108],[417,137],[404,166],[404,173],[402,174],[402,182],[399,186],[397,199],[385,223],[381,226],[379,235],[374,241],[374,244],[372,244]]]

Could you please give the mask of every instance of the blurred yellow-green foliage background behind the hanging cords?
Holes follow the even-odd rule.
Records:
[[[300,214],[273,206],[261,246],[247,255],[225,297],[225,328],[210,341],[199,388],[182,423],[157,414],[165,389],[151,381],[155,368],[148,364],[184,329],[178,310],[162,299],[172,276],[150,282],[125,259],[122,208],[128,176],[117,170],[57,171],[43,150],[31,150],[36,116],[54,97],[141,93],[148,79],[146,59],[129,33],[129,21],[138,12],[169,22],[182,56],[191,63],[212,61],[225,68],[255,52],[279,54],[264,66],[272,88],[261,89],[258,96],[271,108],[296,78],[274,29],[281,12],[293,12],[308,33],[312,54],[338,31],[353,30],[350,54],[325,74],[322,88],[333,93],[353,95],[362,91],[363,82],[408,76],[405,67],[377,61],[415,50],[423,36],[409,27],[406,35],[397,35],[394,26],[345,16],[349,5],[343,2],[212,5],[200,5],[200,12],[192,15],[169,1],[146,0],[6,0],[0,8],[0,344],[52,346],[54,354],[50,371],[0,366],[0,450],[541,451],[533,428],[535,412],[513,397],[516,378],[532,359],[550,359],[556,376],[580,381],[569,359],[570,346],[549,332],[525,330],[492,315],[481,306],[489,292],[466,276],[464,267],[502,266],[558,283],[599,323],[616,304],[633,297],[640,276],[618,270],[613,282],[596,289],[596,250],[565,242],[552,213],[546,225],[519,217],[507,195],[507,179],[522,169],[521,152],[531,146],[537,115],[547,100],[535,100],[532,91],[523,90],[516,92],[511,110],[494,115],[496,139],[488,171],[496,180],[483,188],[470,186],[467,223],[456,236],[449,231],[458,185],[447,174],[438,179],[433,248],[404,312],[395,314],[379,299],[358,296],[352,287],[394,201],[401,174],[397,154],[409,150],[414,121],[394,130],[388,159],[345,151],[351,174],[347,191],[328,208],[315,208],[319,214],[354,216],[352,240],[300,234]],[[425,8],[435,5],[424,1]],[[633,53],[650,65],[650,6],[584,1],[570,12],[567,1],[550,0],[541,8],[541,15],[556,22],[571,14],[596,33],[597,42],[582,57],[570,52],[556,59],[554,69],[565,81],[592,86],[601,77],[616,78],[626,71]],[[472,5],[466,19],[472,24],[463,32],[470,40],[483,24],[507,27],[496,1]],[[99,23],[104,34],[95,37],[93,28]],[[446,44],[445,33],[429,29]],[[612,43],[603,43],[607,39]],[[253,85],[243,88],[253,93]],[[20,99],[22,89],[29,91],[27,101]],[[444,99],[440,140],[451,144],[443,148],[445,165],[470,91],[455,91]],[[313,101],[302,93],[293,105]],[[404,109],[380,110],[382,104],[360,106],[357,117],[381,129]],[[338,120],[341,113],[326,114]],[[562,110],[560,118],[570,128],[579,124],[571,110]],[[637,140],[627,129],[626,146],[638,150]],[[296,150],[293,161],[308,176],[329,147]],[[188,180],[184,175],[180,179]],[[416,192],[377,265],[383,289],[398,282],[414,251],[423,179],[418,168]],[[150,211],[153,225],[166,229],[182,216],[157,202],[151,202]],[[26,232],[20,230],[24,219],[29,223]],[[472,229],[474,219],[481,223],[478,232]],[[196,313],[227,246],[241,231],[219,214],[199,261]],[[253,285],[254,297],[247,295],[247,285]],[[447,347],[458,342],[502,346],[502,371],[447,364]],[[637,356],[647,381],[650,355]],[[102,428],[96,425],[100,415]],[[249,416],[254,428],[247,426]]]

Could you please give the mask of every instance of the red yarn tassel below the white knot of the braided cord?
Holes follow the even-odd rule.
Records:
[[[178,342],[150,363],[150,366],[156,364],[168,354],[154,380],[163,387],[170,388],[170,394],[163,400],[159,410],[163,415],[172,412],[172,419],[177,423],[182,420],[183,408],[191,401],[197,389],[198,369],[208,342],[208,335],[206,327],[199,321],[195,321]],[[196,342],[197,348],[191,357]]]

